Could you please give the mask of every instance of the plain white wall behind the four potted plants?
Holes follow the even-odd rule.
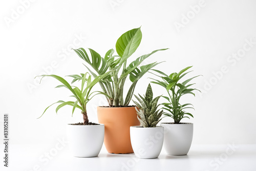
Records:
[[[11,144],[55,144],[66,136],[67,123],[82,121],[78,110],[71,117],[70,106],[58,115],[53,106],[36,119],[48,105],[68,100],[71,94],[54,89],[59,83],[53,78],[38,85],[35,76],[45,70],[59,76],[87,71],[83,60],[70,51],[73,41],[79,44],[75,48],[92,48],[104,56],[122,33],[140,26],[142,41],[130,61],[155,49],[170,48],[146,62],[166,61],[155,68],[166,74],[194,66],[189,76],[203,75],[194,80],[195,88],[203,93],[183,97],[196,109],[191,111],[195,118],[183,120],[194,123],[193,144],[255,144],[256,2],[207,0],[195,14],[191,6],[198,4],[194,0],[58,0],[30,2],[23,10],[20,1],[2,1],[0,113],[1,125],[3,114],[10,115]],[[20,14],[14,17],[13,11]],[[187,23],[184,15],[190,17]],[[177,28],[177,23],[183,27]],[[76,38],[79,35],[83,37],[80,41]],[[247,41],[254,45],[250,47]],[[242,57],[229,57],[236,53]],[[55,68],[50,68],[52,62]],[[222,68],[225,73],[220,74]],[[145,93],[150,82],[147,77],[152,75],[138,82],[135,94]],[[155,96],[164,92],[161,87],[152,87]],[[97,96],[88,104],[89,119],[94,122],[97,105],[106,105],[104,97]]]

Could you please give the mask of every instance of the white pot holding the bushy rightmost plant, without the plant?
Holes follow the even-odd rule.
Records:
[[[164,148],[168,155],[186,155],[193,139],[193,123],[161,123],[164,126]]]

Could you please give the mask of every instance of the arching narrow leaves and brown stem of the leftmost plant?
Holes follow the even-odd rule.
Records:
[[[82,81],[81,81],[81,89],[79,89],[78,87],[76,86],[71,86],[68,81],[66,81],[65,79],[63,79],[62,77],[60,76],[57,76],[57,75],[41,75],[42,78],[44,77],[53,77],[55,79],[57,79],[58,81],[60,81],[62,84],[57,86],[56,88],[67,88],[69,89],[71,92],[72,92],[72,96],[71,97],[74,97],[75,100],[74,101],[62,101],[62,100],[59,100],[53,104],[56,104],[56,103],[60,103],[57,108],[56,108],[56,113],[58,112],[58,110],[60,108],[62,108],[63,106],[65,105],[71,105],[73,106],[73,110],[72,110],[72,116],[73,116],[73,113],[75,111],[76,108],[80,109],[81,110],[81,113],[82,113],[82,116],[83,116],[83,124],[84,125],[87,125],[89,123],[89,119],[88,119],[88,115],[87,115],[87,103],[97,94],[102,94],[102,92],[98,92],[98,91],[95,91],[95,92],[92,92],[91,93],[91,90],[93,88],[93,86],[99,82],[101,79],[103,79],[105,76],[108,76],[110,72],[106,72],[105,74],[102,74],[100,76],[97,76],[94,78],[94,80],[92,80],[92,76],[89,74],[89,73],[86,73],[86,74],[81,74],[81,76],[79,75],[69,75],[70,77],[73,77],[73,82],[75,82],[77,79],[77,77],[79,77]],[[41,79],[42,79],[41,78]],[[94,94],[96,93],[96,94]],[[53,104],[49,105],[44,113],[46,112],[46,110],[52,106]],[[42,113],[42,115],[44,115],[44,113]],[[42,116],[41,115],[41,116]],[[40,117],[41,117],[40,116]],[[40,118],[39,117],[39,118]]]

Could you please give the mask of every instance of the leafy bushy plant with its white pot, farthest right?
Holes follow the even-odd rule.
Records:
[[[200,75],[180,82],[182,77],[191,72],[184,73],[189,68],[191,67],[187,67],[179,73],[172,73],[169,76],[161,71],[154,70],[161,74],[161,76],[157,75],[161,77],[161,80],[154,79],[155,81],[152,81],[152,83],[164,87],[168,94],[168,97],[163,96],[168,101],[167,103],[162,103],[164,105],[163,109],[167,111],[164,115],[174,119],[174,122],[160,124],[164,126],[164,148],[168,155],[186,155],[193,139],[193,123],[180,122],[183,118],[193,117],[185,109],[194,109],[190,103],[180,104],[180,98],[186,94],[193,94],[195,96],[193,92],[199,91],[190,88],[195,83],[188,84],[188,82]]]

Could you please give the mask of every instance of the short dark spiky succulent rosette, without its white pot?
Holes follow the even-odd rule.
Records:
[[[134,95],[137,100],[136,102],[133,100],[133,102],[138,106],[139,110],[136,108],[137,114],[138,114],[138,120],[140,121],[141,126],[143,127],[156,127],[157,123],[161,120],[160,117],[163,114],[163,110],[160,111],[157,110],[158,106],[160,104],[157,104],[159,98],[161,96],[157,96],[153,99],[153,91],[151,88],[151,85],[148,84],[148,87],[146,89],[146,95],[140,98],[136,95]],[[160,112],[159,112],[160,111]]]

